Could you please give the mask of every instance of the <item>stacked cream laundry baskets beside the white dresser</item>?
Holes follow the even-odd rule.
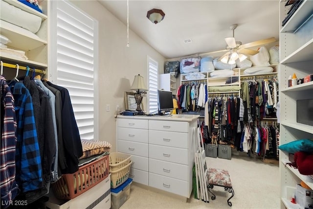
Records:
[[[119,152],[110,154],[111,188],[120,186],[128,179],[131,164],[131,155]]]

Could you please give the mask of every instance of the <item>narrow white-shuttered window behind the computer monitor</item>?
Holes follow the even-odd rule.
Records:
[[[148,67],[148,113],[157,111],[158,63],[147,56]]]

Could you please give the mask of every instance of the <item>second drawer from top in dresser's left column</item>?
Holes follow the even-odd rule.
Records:
[[[148,143],[148,130],[135,128],[116,128],[117,139]]]

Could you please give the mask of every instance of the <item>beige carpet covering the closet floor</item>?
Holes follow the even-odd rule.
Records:
[[[259,159],[232,156],[231,160],[206,158],[208,167],[227,169],[235,191],[227,205],[230,193],[215,186],[216,199],[209,203],[193,198],[187,200],[169,193],[138,184],[131,185],[130,198],[120,209],[279,209],[279,166]]]

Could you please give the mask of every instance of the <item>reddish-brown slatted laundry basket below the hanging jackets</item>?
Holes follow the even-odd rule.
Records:
[[[72,174],[64,174],[52,184],[59,199],[70,200],[97,185],[109,176],[109,155],[79,167]]]

